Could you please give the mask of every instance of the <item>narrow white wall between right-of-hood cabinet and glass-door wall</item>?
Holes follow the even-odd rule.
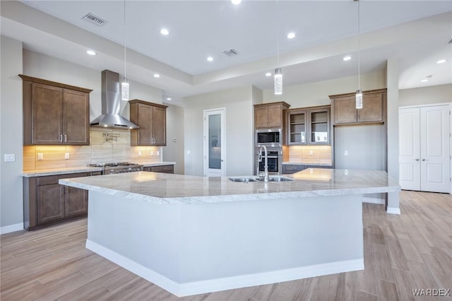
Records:
[[[174,173],[184,175],[183,107],[169,105],[167,108],[167,146],[163,146],[163,160],[175,162]]]

